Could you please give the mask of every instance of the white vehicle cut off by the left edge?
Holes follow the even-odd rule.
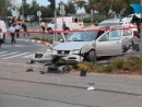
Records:
[[[3,32],[3,35],[2,35],[2,43],[5,43],[5,38],[7,38],[7,26],[5,26],[5,23],[4,23],[4,21],[1,21],[0,20],[0,28],[2,29],[2,32]]]

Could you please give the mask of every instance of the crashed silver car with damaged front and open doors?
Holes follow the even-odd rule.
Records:
[[[78,55],[95,62],[97,57],[122,55],[123,46],[133,37],[133,32],[123,26],[94,26],[61,37],[63,40],[60,44],[56,35],[54,37],[54,56]]]

